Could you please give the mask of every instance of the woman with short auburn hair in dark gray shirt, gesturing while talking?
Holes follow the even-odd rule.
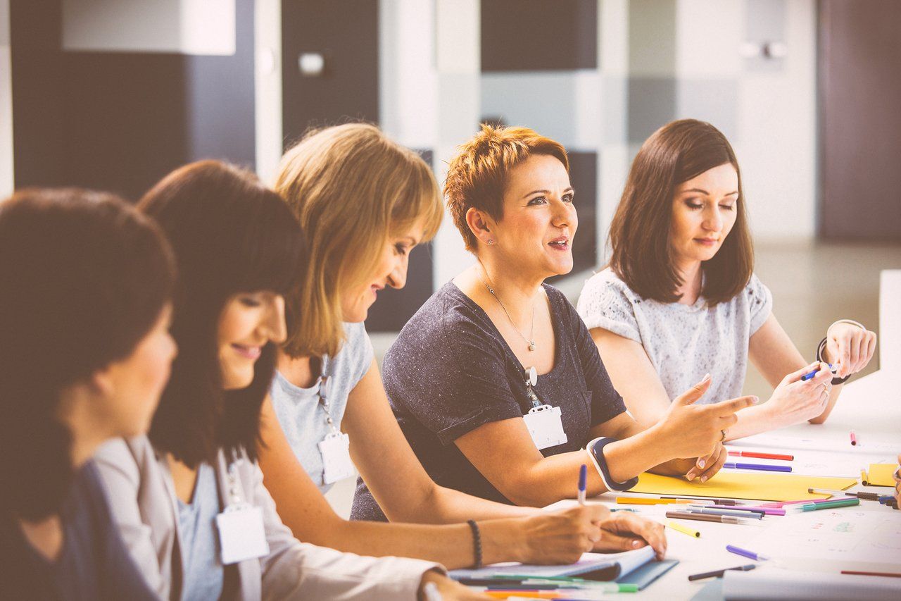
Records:
[[[647,470],[706,478],[752,402],[695,407],[702,381],[650,430],[625,412],[576,310],[543,283],[572,269],[574,193],[566,151],[525,127],[482,125],[451,160],[448,207],[476,264],[425,302],[383,362],[401,430],[440,485],[542,506],[575,496],[587,463],[589,495]]]

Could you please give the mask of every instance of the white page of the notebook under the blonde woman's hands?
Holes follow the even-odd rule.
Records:
[[[506,562],[495,563],[480,569],[451,569],[451,578],[491,578],[495,574],[531,576],[533,578],[549,578],[557,576],[573,576],[594,572],[601,569],[609,569],[614,580],[623,574],[628,574],[647,562],[654,559],[654,550],[642,547],[622,553],[583,553],[576,562],[565,566],[536,566],[531,564]]]

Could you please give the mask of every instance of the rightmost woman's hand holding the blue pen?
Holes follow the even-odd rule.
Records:
[[[801,376],[815,369],[818,372],[806,382]],[[833,373],[829,365],[814,362],[787,374],[764,405],[780,423],[789,425],[815,418],[826,408],[833,390]]]

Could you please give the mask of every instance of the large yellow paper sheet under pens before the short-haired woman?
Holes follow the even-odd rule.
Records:
[[[854,478],[828,476],[796,476],[795,474],[748,474],[720,472],[705,483],[688,482],[685,478],[642,474],[632,493],[651,495],[715,496],[728,499],[760,499],[760,501],[800,501],[824,499],[829,495],[811,495],[808,488],[844,490],[857,484]]]

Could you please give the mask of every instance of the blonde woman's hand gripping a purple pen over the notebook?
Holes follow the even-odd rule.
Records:
[[[523,541],[519,560],[549,565],[574,563],[582,553],[595,548],[602,535],[599,524],[609,517],[606,505],[592,503],[516,520]]]

